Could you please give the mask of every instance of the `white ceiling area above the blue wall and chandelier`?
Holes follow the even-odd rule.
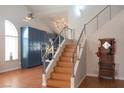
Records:
[[[45,22],[53,31],[55,31],[52,24],[54,19],[60,17],[68,19],[68,5],[26,5],[26,7],[33,13],[35,19]]]

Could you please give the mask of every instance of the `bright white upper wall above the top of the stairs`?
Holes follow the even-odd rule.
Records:
[[[68,10],[68,24],[69,27],[74,29],[75,39],[79,38],[79,35],[83,29],[84,24],[86,24],[91,18],[93,18],[99,11],[101,11],[104,5],[86,5],[84,10],[82,10],[81,15],[76,14],[74,5],[69,7]]]

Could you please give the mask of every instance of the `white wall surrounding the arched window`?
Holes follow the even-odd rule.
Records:
[[[30,23],[23,21],[23,18],[29,13],[25,6],[0,6],[0,72],[7,70],[17,69],[20,67],[20,59],[13,62],[5,62],[5,38],[4,38],[4,20],[7,19],[11,21],[17,28],[18,33],[20,33],[21,26],[32,26],[41,30],[50,32],[47,25],[42,23],[38,19],[33,19]],[[20,48],[19,48],[20,54]],[[19,55],[20,58],[20,55]]]

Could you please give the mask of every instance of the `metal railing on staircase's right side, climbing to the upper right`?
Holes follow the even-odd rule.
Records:
[[[74,71],[74,68],[75,68],[75,62],[77,61],[77,60],[79,60],[80,58],[79,58],[79,53],[80,53],[80,49],[83,47],[82,46],[82,40],[84,39],[84,38],[86,38],[86,26],[88,25],[88,24],[90,24],[95,18],[97,18],[97,30],[98,30],[98,24],[99,24],[99,20],[98,20],[98,17],[99,17],[99,15],[101,14],[101,13],[103,13],[103,11],[105,11],[106,9],[109,9],[109,18],[110,18],[110,20],[111,20],[111,6],[110,5],[107,5],[104,9],[102,9],[96,16],[94,16],[90,21],[88,21],[86,24],[84,24],[84,27],[83,27],[83,29],[82,29],[82,31],[81,31],[81,34],[80,34],[80,36],[79,36],[79,38],[78,38],[78,41],[77,41],[77,43],[76,43],[76,47],[75,47],[75,49],[74,49],[74,54],[73,54],[73,57],[72,57],[72,63],[73,63],[73,68],[72,68],[72,77],[75,77],[75,71]]]

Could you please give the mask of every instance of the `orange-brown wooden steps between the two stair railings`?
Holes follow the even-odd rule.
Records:
[[[57,61],[54,71],[50,74],[47,87],[54,88],[68,88],[70,87],[70,79],[72,73],[72,56],[76,44],[69,43],[65,45],[65,48]]]

